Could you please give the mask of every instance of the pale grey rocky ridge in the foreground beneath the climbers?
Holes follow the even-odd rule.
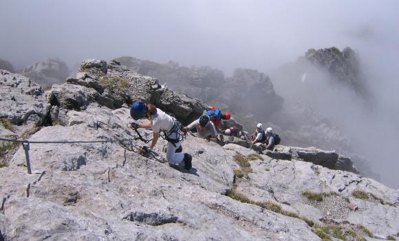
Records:
[[[35,112],[42,118],[32,118],[29,125],[28,121],[11,125],[11,129],[42,127],[29,140],[135,137],[127,124],[128,106],[137,98],[153,101],[187,121],[206,106],[116,61],[84,61],[76,78],[47,92],[28,78],[1,72],[1,83],[13,78],[18,85],[0,87],[8,88],[4,93],[14,91],[14,100],[2,94],[1,102],[43,101]],[[34,86],[36,95],[26,94],[29,86]],[[30,112],[30,104],[34,101],[24,103],[27,109],[20,109],[22,116]],[[184,108],[190,113],[182,114]],[[14,119],[15,112],[1,111],[3,117]],[[20,133],[0,129],[1,136]],[[151,138],[151,132],[140,132]],[[187,173],[164,163],[164,143],[160,140],[149,158],[137,154],[143,144],[139,140],[32,144],[31,175],[26,174],[25,154],[19,147],[8,167],[0,168],[0,238],[320,240],[327,233],[334,236],[325,228],[332,224],[345,237],[352,237],[349,229],[364,237],[398,235],[399,191],[358,174],[322,167],[337,165],[340,157],[334,151],[277,146],[279,151],[263,155],[239,145],[220,147],[188,136],[183,147],[193,154],[193,169]],[[315,202],[305,198],[305,191],[330,196]],[[355,198],[354,191],[368,196]]]

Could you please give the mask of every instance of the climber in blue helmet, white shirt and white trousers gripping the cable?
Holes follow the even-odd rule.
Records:
[[[149,122],[139,123],[138,128],[152,128],[153,139],[149,145],[152,150],[160,137],[160,132],[164,132],[165,139],[168,141],[166,160],[169,163],[179,165],[184,162],[184,168],[191,169],[191,155],[175,152],[176,149],[181,148],[182,138],[180,134],[180,123],[177,123],[175,118],[169,116],[161,109],[158,109],[153,104],[146,104],[141,101],[136,101],[130,109],[130,116],[138,121],[140,118],[147,118]],[[133,128],[133,127],[132,127]]]

